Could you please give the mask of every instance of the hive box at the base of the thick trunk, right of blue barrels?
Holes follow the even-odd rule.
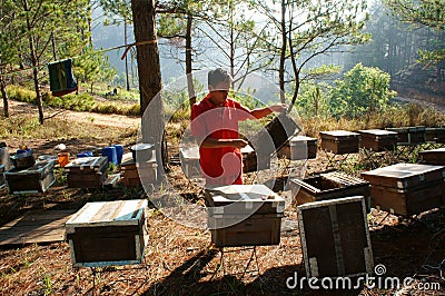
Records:
[[[135,186],[141,182],[151,184],[157,180],[158,176],[156,156],[147,161],[135,162],[131,152],[125,154],[122,156],[120,169],[122,171],[125,186]]]

